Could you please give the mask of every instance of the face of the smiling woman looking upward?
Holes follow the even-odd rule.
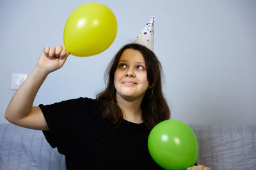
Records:
[[[147,69],[140,51],[128,48],[122,53],[116,67],[114,84],[116,97],[127,101],[143,99],[148,89]]]

